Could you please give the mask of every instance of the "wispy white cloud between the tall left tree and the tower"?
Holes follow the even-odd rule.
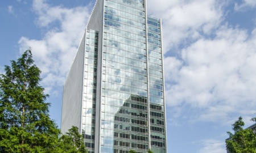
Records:
[[[20,53],[32,48],[35,63],[42,70],[42,85],[49,93],[64,84],[90,16],[90,6],[64,8],[35,0],[33,9],[38,15],[36,23],[48,31],[42,40],[21,37]],[[54,23],[60,27],[53,27]]]

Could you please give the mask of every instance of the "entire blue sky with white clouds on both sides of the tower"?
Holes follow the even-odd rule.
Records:
[[[60,125],[62,90],[95,0],[2,1],[0,73],[31,46]],[[163,20],[168,152],[224,153],[256,113],[256,1],[148,0]]]

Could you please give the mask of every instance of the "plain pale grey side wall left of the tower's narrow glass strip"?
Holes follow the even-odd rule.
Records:
[[[63,88],[61,111],[61,132],[64,134],[72,126],[81,128],[82,80],[84,73],[85,35],[82,38],[76,57]]]

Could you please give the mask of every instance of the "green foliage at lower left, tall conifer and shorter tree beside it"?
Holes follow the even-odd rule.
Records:
[[[59,139],[40,73],[28,49],[0,75],[0,152],[65,152],[64,142],[82,147],[74,127]],[[69,137],[77,139],[70,142]]]

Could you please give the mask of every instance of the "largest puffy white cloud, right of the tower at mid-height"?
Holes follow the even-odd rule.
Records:
[[[165,75],[174,81],[166,86],[168,105],[189,104],[200,109],[197,120],[204,121],[225,122],[236,112],[251,116],[256,107],[255,38],[255,31],[224,25],[213,39],[201,38],[184,48],[181,59],[167,57],[171,66],[165,65]]]

